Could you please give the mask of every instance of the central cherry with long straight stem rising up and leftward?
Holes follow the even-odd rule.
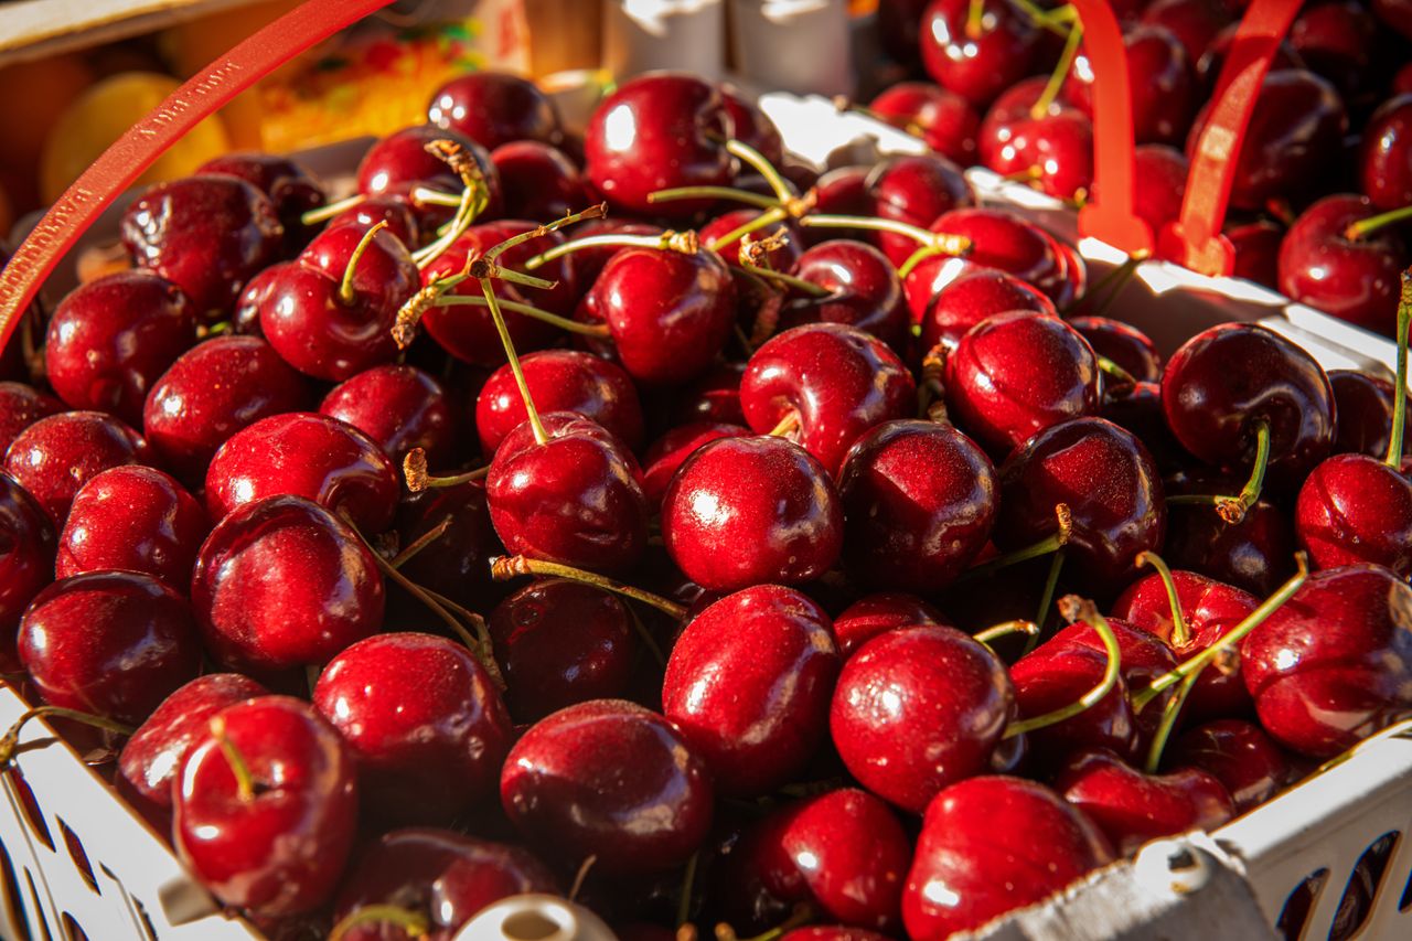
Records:
[[[572,411],[511,431],[490,462],[490,519],[505,550],[596,572],[631,568],[647,544],[642,472],[621,441]]]

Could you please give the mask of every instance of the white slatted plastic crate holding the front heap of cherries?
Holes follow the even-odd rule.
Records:
[[[840,114],[822,97],[765,95],[761,105],[779,124],[786,147],[819,165],[840,158],[864,162],[878,154],[922,148],[919,141],[891,127],[858,114]],[[356,151],[326,148],[306,158],[313,170],[332,175],[350,168]],[[1073,213],[1062,203],[984,170],[967,175],[987,203],[1012,206],[1058,235],[1075,237]],[[96,226],[96,232],[104,229],[116,230],[116,211]],[[1123,259],[1120,251],[1093,239],[1082,240],[1079,249],[1090,268],[1100,273]],[[62,287],[64,281],[61,271],[54,283]],[[1395,363],[1396,349],[1384,338],[1291,304],[1258,285],[1206,278],[1169,263],[1139,266],[1111,312],[1148,332],[1165,353],[1210,325],[1257,321],[1309,349],[1326,369],[1381,370],[1391,376]],[[8,728],[25,708],[13,690],[0,687],[0,729]],[[42,722],[32,722],[21,743],[38,743],[51,735]],[[93,941],[219,941],[254,934],[244,921],[219,910],[167,845],[65,743],[51,742],[24,752],[16,766],[34,793],[42,827],[23,810],[18,784],[6,773],[0,845],[13,879],[0,880],[6,886],[0,892],[4,937],[27,933],[31,938]],[[40,831],[49,838],[41,839]],[[1269,937],[1286,899],[1313,876],[1319,889],[1298,937],[1322,940],[1329,937],[1360,856],[1388,834],[1396,834],[1395,844],[1358,938],[1412,938],[1412,722],[1360,745],[1344,763],[1209,836],[1193,834],[1149,844],[1131,863],[1094,873],[1062,897],[1012,913],[976,937],[995,941]]]

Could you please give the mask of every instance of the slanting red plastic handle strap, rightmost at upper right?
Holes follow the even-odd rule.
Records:
[[[1216,83],[1216,103],[1192,155],[1182,215],[1166,225],[1158,240],[1163,259],[1213,277],[1234,268],[1236,249],[1221,235],[1221,226],[1236,164],[1265,72],[1298,11],[1299,0],[1252,0],[1245,11]]]

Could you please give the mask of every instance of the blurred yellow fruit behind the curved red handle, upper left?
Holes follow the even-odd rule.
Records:
[[[109,144],[157,107],[181,83],[155,72],[124,72],[97,82],[59,117],[40,160],[40,192],[45,202],[58,199]],[[138,184],[174,179],[230,150],[219,116],[196,124],[138,177]]]

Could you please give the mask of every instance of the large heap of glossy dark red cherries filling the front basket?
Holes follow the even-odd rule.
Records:
[[[1412,714],[1385,377],[689,75],[429,119],[152,187],[0,383],[4,671],[263,931],[929,941]]]

